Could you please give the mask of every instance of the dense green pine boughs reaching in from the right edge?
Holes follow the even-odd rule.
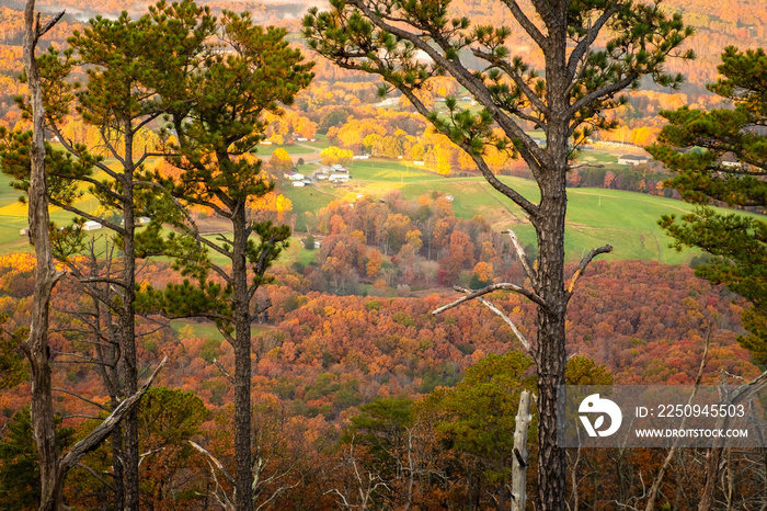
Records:
[[[719,66],[721,78],[708,86],[734,107],[710,112],[683,106],[661,112],[669,124],[649,148],[675,172],[669,185],[698,204],[679,223],[674,215],[660,224],[677,250],[698,247],[714,256],[696,275],[725,284],[747,298],[743,311],[747,336],[739,342],[767,365],[767,222],[756,216],[717,213],[726,204],[765,213],[767,208],[767,55],[764,49],[728,47]]]

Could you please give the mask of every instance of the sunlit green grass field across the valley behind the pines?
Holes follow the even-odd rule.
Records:
[[[604,164],[617,160],[617,157],[599,152],[589,152],[585,157]],[[458,217],[482,215],[493,228],[515,229],[525,243],[535,239],[533,227],[525,220],[522,209],[482,178],[444,178],[411,162],[376,159],[355,160],[348,169],[352,180],[344,185],[323,182],[318,185],[319,190],[314,186],[283,186],[282,193],[293,202],[298,232],[306,231],[306,213],[314,213],[333,200],[353,202],[359,195],[379,198],[400,190],[410,200],[433,191],[444,192],[453,195]],[[502,180],[531,201],[538,200],[535,182],[508,177]],[[32,250],[26,238],[19,236],[19,230],[26,227],[26,206],[16,201],[19,193],[8,186],[9,182],[7,177],[0,175],[0,254]],[[98,209],[90,195],[85,195],[80,205],[88,211]],[[669,249],[669,239],[657,227],[661,215],[691,211],[689,204],[680,201],[616,190],[570,189],[568,207],[565,250],[569,261],[580,260],[586,251],[605,243],[615,247],[609,256],[611,260],[643,259],[677,264],[699,253],[692,250],[679,253]],[[51,208],[51,219],[58,224],[68,224],[72,217],[68,212]],[[300,240],[295,239],[282,259],[306,263],[312,257],[313,252],[305,250]],[[214,256],[214,259],[219,258]],[[226,264],[220,259],[216,262]]]

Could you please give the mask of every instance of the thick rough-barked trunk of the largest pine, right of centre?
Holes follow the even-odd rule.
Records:
[[[549,27],[546,52],[547,98],[551,117],[547,126],[548,164],[538,178],[540,204],[534,222],[538,238],[537,294],[548,307],[538,307],[538,507],[543,511],[566,509],[565,456],[557,446],[557,395],[564,384],[566,362],[564,317],[568,293],[564,285],[564,218],[568,209],[566,172],[570,98],[566,91],[568,2],[560,2],[553,15],[562,18]],[[561,44],[557,44],[561,42]]]

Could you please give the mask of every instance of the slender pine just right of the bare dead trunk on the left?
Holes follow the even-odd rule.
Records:
[[[150,155],[146,147],[139,146],[142,138],[139,134],[165,110],[165,105],[158,101],[158,91],[161,87],[179,83],[180,76],[186,70],[185,61],[209,35],[211,19],[204,14],[207,14],[206,10],[184,1],[173,5],[160,2],[150,14],[138,20],[133,20],[125,12],[116,20],[99,16],[90,20],[82,32],[73,33],[68,39],[69,48],[59,52],[51,47],[36,59],[42,100],[38,107],[41,114],[42,107],[45,107],[45,127],[58,136],[66,149],[58,151],[50,146],[45,147],[46,200],[79,215],[80,223],[89,219],[102,224],[115,232],[116,243],[122,250],[119,275],[83,275],[76,265],[68,268],[84,285],[90,286],[94,296],[100,296],[104,307],[116,318],[114,338],[106,339],[106,343],[113,344],[123,367],[121,375],[113,375],[105,382],[111,389],[113,409],[140,391],[136,357],[135,274],[137,253],[145,249],[137,248],[136,217],[145,213],[140,195],[146,182],[141,182],[140,178]],[[167,23],[168,18],[175,19],[178,23]],[[70,79],[76,66],[87,67],[88,81],[84,87]],[[24,76],[31,83],[34,78],[30,71]],[[34,101],[22,98],[19,103],[26,115],[34,114]],[[87,140],[90,147],[64,136],[66,118],[75,112],[89,126],[89,134],[98,138]],[[43,137],[43,125],[39,130]],[[3,138],[7,141],[3,171],[16,180],[16,188],[30,194],[32,204],[31,183],[34,178],[31,179],[31,175],[34,173],[31,174],[31,168],[34,167],[26,155],[27,148],[36,143],[32,134],[26,133],[5,134]],[[117,166],[106,164],[103,154],[115,158]],[[103,172],[106,178],[96,179],[95,172]],[[114,213],[113,218],[122,218],[122,223],[83,209],[77,200],[82,196],[81,189],[85,186],[91,189],[101,206]],[[47,203],[45,209],[46,220],[39,225],[47,226]],[[47,235],[48,229],[45,231]],[[85,248],[82,231],[77,228],[65,229],[62,234],[51,230],[51,234],[58,238],[54,239],[53,248],[65,248],[55,256],[65,262],[68,256]],[[36,247],[42,247],[42,243],[37,242]],[[50,266],[53,269],[53,262]],[[96,288],[99,284],[107,284],[104,285],[104,289]],[[135,412],[128,411],[125,429],[124,451],[119,447],[119,441],[113,442],[115,507],[137,510],[139,453]],[[115,434],[119,436],[118,429]]]

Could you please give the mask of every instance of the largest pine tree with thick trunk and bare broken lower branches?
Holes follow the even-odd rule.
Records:
[[[611,250],[605,246],[588,252],[568,282],[563,266],[570,144],[584,140],[591,128],[616,127],[603,113],[625,104],[619,93],[638,87],[643,77],[662,86],[680,83],[680,76],[665,73],[663,67],[668,57],[692,57],[679,50],[692,30],[678,14],[666,14],[660,2],[531,0],[527,9],[516,0],[504,0],[519,29],[542,53],[545,72],[540,73],[505,46],[512,29],[471,27],[468,18],[450,15],[449,0],[330,3],[329,11],[312,9],[305,18],[309,45],[342,68],[379,75],[387,82],[384,93],[393,88],[401,91],[417,112],[472,157],[488,182],[518,205],[535,227],[537,265],[515,243],[531,288],[511,283],[488,286],[451,305],[499,288],[520,293],[537,305],[537,342],[535,347],[526,343],[538,372],[537,506],[564,509],[564,452],[557,446],[564,317],[573,286],[588,262]],[[461,110],[455,98],[447,99],[446,115],[424,102],[430,80],[445,73],[477,100],[479,113]],[[546,133],[545,148],[526,133],[529,127]],[[537,203],[493,174],[490,152],[485,152],[489,146],[525,160],[540,190]]]

